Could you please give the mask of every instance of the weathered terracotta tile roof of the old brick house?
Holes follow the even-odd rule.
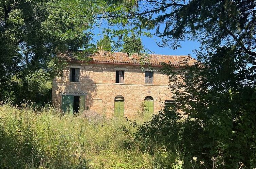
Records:
[[[72,53],[59,54],[60,57],[67,60],[78,61],[77,57]],[[133,54],[128,56],[127,53],[122,52],[96,52],[93,55],[84,56],[91,58],[91,62],[104,62],[104,63],[126,63],[126,64],[151,64],[161,65],[161,63],[169,63],[173,66],[193,65],[197,62],[196,59],[190,56],[179,55],[157,55],[157,54]]]

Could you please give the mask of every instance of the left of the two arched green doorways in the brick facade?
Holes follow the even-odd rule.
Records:
[[[114,116],[124,117],[125,112],[125,99],[122,95],[115,96],[114,102]]]

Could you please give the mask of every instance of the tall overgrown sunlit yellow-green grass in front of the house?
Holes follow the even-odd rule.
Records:
[[[143,120],[137,120],[142,123]],[[124,129],[125,128],[125,132]],[[10,104],[0,106],[0,168],[152,169],[125,119],[90,120]]]

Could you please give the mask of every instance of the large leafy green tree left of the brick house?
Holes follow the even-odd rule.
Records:
[[[51,81],[65,66],[56,54],[88,48],[89,29],[101,5],[93,2],[0,2],[1,100],[49,101]]]

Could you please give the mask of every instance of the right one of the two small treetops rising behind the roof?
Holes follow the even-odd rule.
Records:
[[[143,51],[143,45],[140,38],[136,38],[135,34],[124,39],[123,49],[121,52],[140,53]]]

